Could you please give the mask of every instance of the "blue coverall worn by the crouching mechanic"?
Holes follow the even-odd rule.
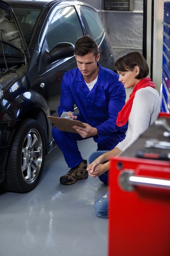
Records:
[[[97,135],[93,137],[97,142],[97,150],[111,150],[125,137],[127,125],[121,128],[116,126],[117,114],[126,99],[124,86],[118,79],[119,76],[115,72],[101,65],[97,83],[91,91],[77,67],[66,72],[62,79],[59,117],[63,111],[73,111],[75,104],[79,110],[79,113],[75,114],[77,120],[97,128]],[[77,141],[83,138],[77,133],[63,132],[56,127],[52,132],[68,167],[79,165],[83,159]]]

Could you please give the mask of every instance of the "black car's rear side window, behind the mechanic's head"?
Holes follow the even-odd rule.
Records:
[[[86,21],[86,25],[91,36],[99,45],[104,36],[104,25],[99,17],[99,14],[97,11],[84,6],[80,6],[80,11]]]

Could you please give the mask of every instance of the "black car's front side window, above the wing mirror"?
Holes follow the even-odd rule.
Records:
[[[69,42],[74,45],[81,36],[83,36],[82,26],[75,8],[65,7],[55,13],[46,34],[46,42],[51,51],[57,43]]]

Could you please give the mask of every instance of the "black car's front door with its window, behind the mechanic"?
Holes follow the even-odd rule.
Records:
[[[54,12],[52,12],[54,13]],[[50,24],[42,43],[42,53],[46,49],[50,52],[57,43],[69,42],[75,45],[77,39],[84,35],[82,25],[74,6],[66,6],[56,10],[49,18]],[[45,65],[42,72],[46,72],[48,81],[48,105],[51,115],[57,116],[60,99],[60,84],[64,73],[76,67],[75,56],[60,59]],[[40,70],[41,72],[41,70]]]

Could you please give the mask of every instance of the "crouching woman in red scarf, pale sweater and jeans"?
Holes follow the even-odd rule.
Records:
[[[99,177],[109,169],[110,156],[118,156],[126,150],[151,124],[161,110],[161,99],[155,85],[148,78],[148,64],[139,52],[131,52],[115,63],[119,81],[124,88],[133,88],[130,97],[118,113],[116,124],[121,127],[128,122],[126,137],[113,150],[96,151],[89,157],[87,171],[92,177]],[[108,193],[95,202],[98,217],[108,218]]]

